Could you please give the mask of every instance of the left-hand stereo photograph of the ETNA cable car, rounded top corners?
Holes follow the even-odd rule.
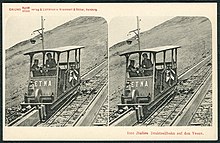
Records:
[[[107,30],[102,17],[10,17],[6,126],[106,126]]]

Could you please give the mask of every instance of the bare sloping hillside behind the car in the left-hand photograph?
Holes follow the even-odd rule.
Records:
[[[69,45],[85,46],[81,51],[81,72],[88,71],[107,56],[107,22],[101,17],[78,17],[45,32],[45,48]],[[39,35],[34,45],[29,40],[22,41],[7,49],[5,63],[6,106],[18,104],[27,92],[29,57],[26,51],[41,49]],[[98,50],[98,52],[97,52]],[[15,102],[11,102],[12,99]],[[17,103],[16,103],[17,102]]]

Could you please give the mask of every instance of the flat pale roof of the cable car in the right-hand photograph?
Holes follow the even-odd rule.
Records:
[[[123,52],[119,55],[124,56],[127,54],[142,53],[142,52],[159,53],[162,51],[172,50],[172,49],[176,49],[176,48],[180,48],[180,46],[175,46],[175,45],[160,46],[160,47],[147,48],[147,49],[141,49],[141,50],[127,51],[127,52]]]

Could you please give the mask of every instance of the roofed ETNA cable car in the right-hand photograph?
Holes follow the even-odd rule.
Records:
[[[168,91],[173,90],[178,79],[178,48],[180,46],[162,46],[120,54],[120,56],[125,56],[126,58],[126,75],[124,93],[121,96],[121,104],[118,106],[156,104],[166,96]],[[142,55],[144,53],[150,57],[149,60],[152,62],[151,68],[146,69],[142,65]],[[169,58],[167,57],[168,54]],[[132,55],[136,55],[139,63],[138,67],[136,67],[136,76],[129,75],[129,63],[131,64],[130,59]],[[159,58],[162,62],[159,62]]]

